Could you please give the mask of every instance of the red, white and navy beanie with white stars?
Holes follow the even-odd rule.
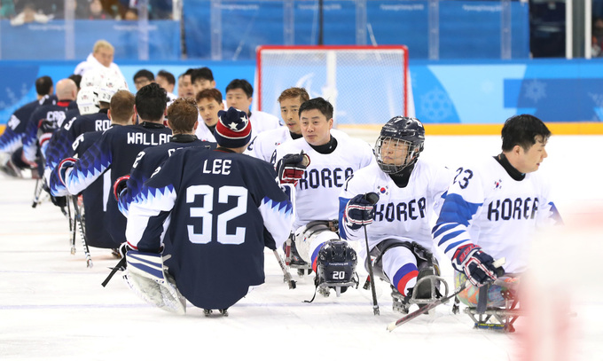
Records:
[[[218,122],[214,129],[215,141],[225,148],[239,148],[251,141],[251,122],[245,112],[230,107],[218,112]]]

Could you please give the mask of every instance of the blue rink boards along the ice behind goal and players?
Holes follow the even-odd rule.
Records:
[[[73,72],[74,62],[0,61],[0,123],[35,98],[35,78],[57,82]],[[141,68],[166,69],[180,75],[189,67],[210,67],[216,88],[224,92],[234,78],[254,81],[255,61],[122,62],[121,71],[135,89],[132,76]],[[513,114],[535,114],[545,122],[603,121],[603,59],[511,61],[411,60],[411,82],[417,117],[426,123],[502,123]],[[289,87],[294,84],[280,84]],[[381,86],[380,84],[375,86]],[[320,94],[311,91],[316,97]],[[341,101],[363,107],[363,94],[340,94]],[[268,109],[279,115],[277,109]],[[378,122],[370,117],[366,123]],[[382,120],[386,122],[387,120]],[[346,118],[337,119],[346,124]],[[362,122],[361,122],[362,123]]]

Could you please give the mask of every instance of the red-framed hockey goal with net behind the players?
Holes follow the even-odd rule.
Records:
[[[408,74],[402,45],[261,46],[256,105],[278,115],[280,93],[301,87],[333,104],[338,125],[384,124],[396,115],[414,116]]]

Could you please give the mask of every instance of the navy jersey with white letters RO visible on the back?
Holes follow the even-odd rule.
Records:
[[[61,128],[55,132],[51,140],[48,142],[46,149],[46,169],[54,169],[59,161],[74,155],[72,147],[75,139],[81,134],[89,131],[106,130],[111,126],[111,120],[107,116],[107,109],[101,109],[95,114],[86,114],[69,118],[67,112],[67,120],[63,122]]]

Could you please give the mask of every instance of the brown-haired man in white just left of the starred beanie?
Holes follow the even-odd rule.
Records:
[[[201,90],[195,96],[199,108],[199,126],[195,135],[202,141],[215,142],[214,129],[218,123],[218,112],[224,110],[222,93],[215,88]]]

